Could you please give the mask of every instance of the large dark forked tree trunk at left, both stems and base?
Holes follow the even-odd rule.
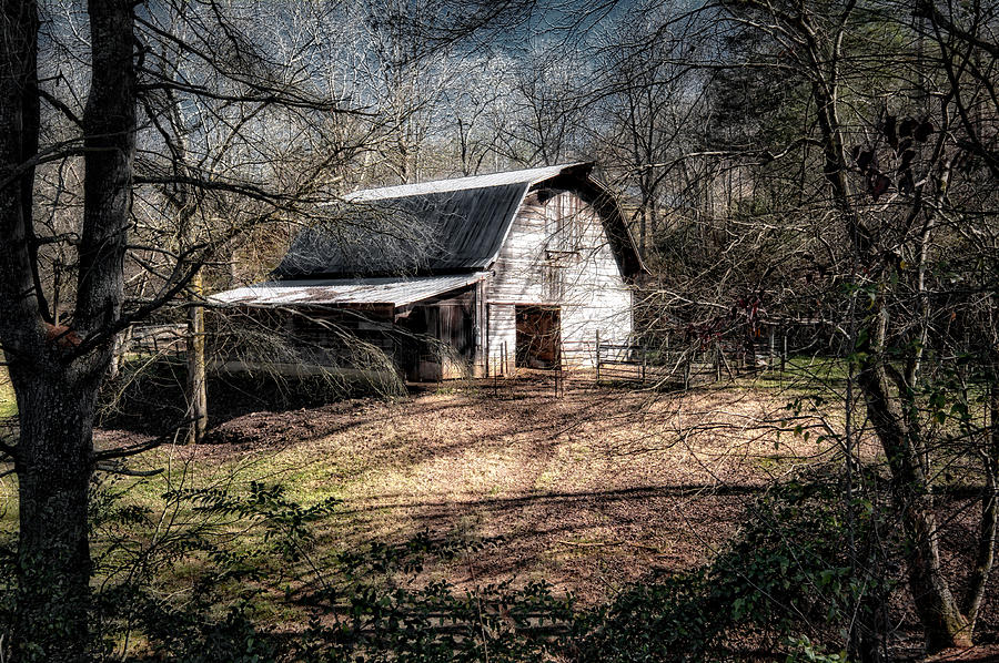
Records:
[[[33,252],[39,21],[0,2],[0,341],[18,396],[19,484],[13,661],[89,660],[94,402],[121,314],[135,144],[135,38],[128,0],[91,0],[91,85],[83,115],[84,208],[77,306],[53,327]],[[82,345],[88,344],[88,345]]]

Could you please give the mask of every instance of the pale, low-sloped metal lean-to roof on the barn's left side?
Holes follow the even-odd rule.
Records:
[[[407,306],[485,278],[484,273],[413,278],[346,278],[258,283],[212,295],[220,305],[278,307],[325,304],[389,304]]]

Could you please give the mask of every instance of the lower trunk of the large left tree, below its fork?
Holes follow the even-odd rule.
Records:
[[[87,502],[95,388],[58,358],[44,371],[11,364],[18,395],[20,501],[14,661],[87,661]]]

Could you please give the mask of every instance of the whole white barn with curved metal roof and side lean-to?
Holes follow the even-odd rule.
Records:
[[[292,242],[273,280],[215,303],[269,310],[342,364],[346,329],[410,379],[587,367],[633,332],[644,266],[591,163],[357,192]],[[307,315],[276,315],[307,313]],[[301,368],[301,367],[300,367]]]

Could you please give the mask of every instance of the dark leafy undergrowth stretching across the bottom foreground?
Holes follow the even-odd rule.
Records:
[[[423,532],[321,553],[314,526],[335,517],[333,498],[305,506],[280,484],[251,482],[171,490],[154,511],[109,481],[91,502],[102,542],[94,657],[624,663],[737,660],[748,649],[841,663],[847,624],[874,623],[894,584],[846,555],[847,526],[862,541],[879,523],[869,503],[839,494],[835,476],[780,484],[709,564],[583,610],[544,582],[458,591],[418,581],[428,563],[498,541]],[[16,541],[2,543],[0,633],[13,618]]]

